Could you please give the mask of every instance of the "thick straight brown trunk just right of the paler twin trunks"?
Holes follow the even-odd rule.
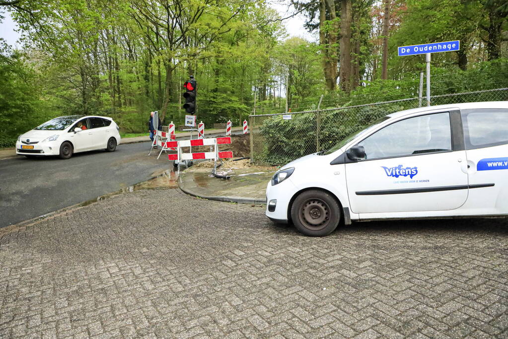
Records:
[[[352,0],[340,2],[340,87],[351,90],[351,22]]]

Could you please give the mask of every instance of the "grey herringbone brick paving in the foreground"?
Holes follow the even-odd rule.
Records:
[[[150,190],[0,236],[0,336],[508,336],[502,220],[316,239]]]

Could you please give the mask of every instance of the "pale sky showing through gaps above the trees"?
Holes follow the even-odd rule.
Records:
[[[282,18],[288,17],[293,14],[293,10],[288,9],[289,0],[270,0],[269,6],[277,10]],[[0,13],[4,16],[2,23],[0,23],[0,38],[3,38],[9,45],[13,47],[20,47],[16,41],[20,37],[20,33],[16,32],[16,23],[12,20],[9,13]],[[303,28],[305,18],[303,15],[296,15],[290,19],[284,20],[284,26],[288,31],[290,37],[300,37],[309,41],[316,41],[317,37],[314,34],[310,34]]]

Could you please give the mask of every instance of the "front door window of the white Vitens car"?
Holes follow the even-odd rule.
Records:
[[[436,113],[397,121],[358,145],[365,159],[399,157],[452,150],[450,114]]]

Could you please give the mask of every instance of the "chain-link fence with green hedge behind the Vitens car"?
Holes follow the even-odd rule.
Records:
[[[508,100],[508,88],[431,96],[431,105]],[[327,150],[348,135],[387,114],[425,105],[408,98],[350,107],[250,115],[250,153],[253,162],[282,165],[301,156]]]

